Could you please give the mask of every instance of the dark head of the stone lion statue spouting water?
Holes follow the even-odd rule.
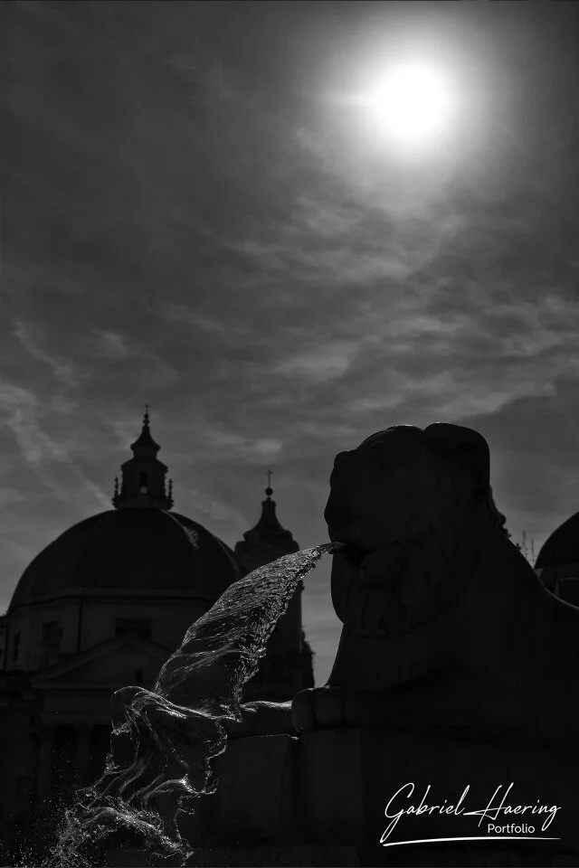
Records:
[[[356,572],[350,600],[356,587],[373,589],[367,605],[383,601],[384,635],[416,627],[460,594],[476,524],[481,516],[492,523],[489,447],[476,431],[443,423],[380,431],[337,455],[330,486],[330,539],[354,552],[347,565],[336,556],[337,582],[344,587],[345,571]],[[347,611],[338,615],[348,623]]]

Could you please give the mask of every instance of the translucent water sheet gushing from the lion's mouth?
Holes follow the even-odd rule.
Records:
[[[304,549],[234,582],[189,627],[153,690],[114,693],[105,770],[76,793],[45,868],[90,868],[128,843],[186,863],[192,851],[179,816],[193,813],[195,798],[217,786],[211,760],[227,746],[223,720],[242,719],[243,685],[257,672],[299,580],[322,555],[342,549],[332,542]]]

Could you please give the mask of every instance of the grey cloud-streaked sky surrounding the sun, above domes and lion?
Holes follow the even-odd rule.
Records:
[[[573,2],[0,4],[0,611],[111,508],[147,401],[176,510],[230,545],[269,468],[306,548],[337,452],[451,421],[538,552],[579,509],[578,30]],[[353,98],[408,51],[460,97],[412,158]],[[304,621],[320,683],[328,564]]]

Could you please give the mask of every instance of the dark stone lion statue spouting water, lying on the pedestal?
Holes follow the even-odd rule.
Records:
[[[394,426],[337,455],[325,518],[343,623],[298,731],[393,726],[577,744],[579,609],[547,591],[498,529],[486,440]]]

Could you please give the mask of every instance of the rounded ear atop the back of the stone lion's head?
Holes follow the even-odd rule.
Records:
[[[466,489],[474,503],[489,499],[489,444],[478,431],[435,422],[424,429],[424,436],[446,459],[460,487]]]

